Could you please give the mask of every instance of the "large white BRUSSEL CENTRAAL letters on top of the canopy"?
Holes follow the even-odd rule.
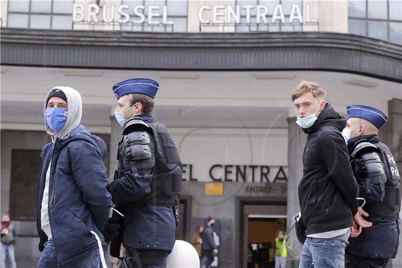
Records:
[[[310,18],[310,6],[306,5],[304,14],[299,5],[292,5],[287,23],[309,23],[317,22]],[[236,6],[202,6],[198,10],[198,21],[200,24],[240,24],[241,13],[245,12],[246,23],[250,24],[252,14],[254,14],[257,24],[286,23],[282,5],[275,5],[273,10],[269,10],[264,5],[236,5]],[[87,23],[118,23],[118,24],[144,24],[148,25],[172,25],[169,21],[167,6],[143,6],[138,5],[130,8],[128,5],[103,5],[96,4],[73,5],[73,22]],[[270,19],[268,19],[268,16]],[[212,20],[207,19],[212,18]],[[102,18],[102,19],[100,19]],[[191,18],[188,18],[191,20]],[[196,19],[196,18],[194,18]]]

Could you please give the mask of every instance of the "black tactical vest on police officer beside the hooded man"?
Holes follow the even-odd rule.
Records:
[[[136,118],[137,121],[139,118]],[[142,119],[141,119],[142,120]],[[146,123],[142,120],[140,124],[130,124],[128,121],[124,126],[123,139],[134,131],[147,131],[149,136],[153,137],[155,142],[152,153],[154,157],[154,165],[152,168],[152,183],[151,192],[145,195],[141,200],[130,203],[117,205],[158,205],[166,207],[177,207],[180,200],[181,192],[181,177],[182,177],[182,164],[177,152],[176,145],[174,144],[170,134],[167,132],[165,125],[161,123]],[[117,177],[120,178],[125,170],[122,168],[122,160],[120,155],[120,146],[118,152],[119,170],[117,170]],[[147,174],[145,174],[147,175]]]

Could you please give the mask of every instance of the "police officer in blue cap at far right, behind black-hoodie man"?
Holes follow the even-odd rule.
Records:
[[[369,214],[366,220],[373,224],[360,229],[357,237],[349,238],[346,267],[385,267],[398,250],[401,198],[395,160],[377,135],[388,118],[381,111],[363,105],[348,106],[346,113],[348,121],[342,135],[359,184],[359,196],[365,200],[363,209]]]

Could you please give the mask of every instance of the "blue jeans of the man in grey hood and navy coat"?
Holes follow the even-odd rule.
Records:
[[[54,250],[53,240],[50,239],[45,243],[45,249],[42,252],[41,258],[38,262],[38,268],[100,268],[99,249],[95,248],[91,251],[83,253],[78,257],[74,257],[74,260],[67,262],[63,265],[59,265],[57,261],[56,251]]]

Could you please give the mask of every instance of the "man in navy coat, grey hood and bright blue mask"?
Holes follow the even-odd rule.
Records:
[[[37,199],[38,267],[99,267],[99,245],[112,197],[103,158],[105,142],[80,125],[82,102],[71,87],[50,90]]]

